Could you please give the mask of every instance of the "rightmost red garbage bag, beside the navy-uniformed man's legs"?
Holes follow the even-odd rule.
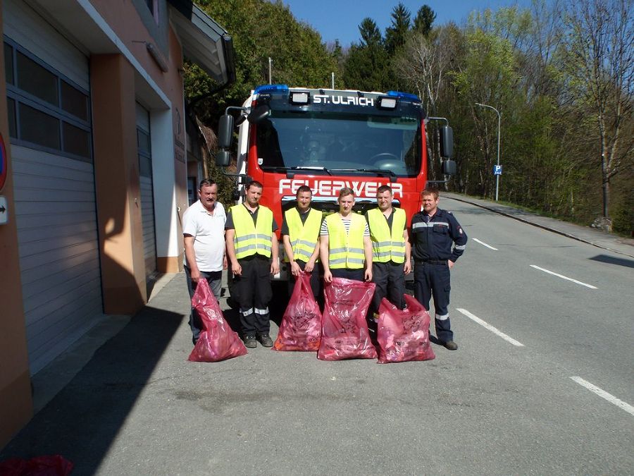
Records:
[[[376,333],[380,364],[436,357],[429,343],[429,313],[411,295],[405,294],[404,298],[406,310],[385,298],[381,300]]]

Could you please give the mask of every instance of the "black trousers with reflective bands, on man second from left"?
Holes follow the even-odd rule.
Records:
[[[268,334],[268,303],[271,301],[271,262],[262,255],[252,255],[238,260],[242,276],[233,277],[232,298],[240,305],[242,336]]]

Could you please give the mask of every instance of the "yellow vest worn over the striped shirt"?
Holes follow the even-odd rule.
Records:
[[[328,266],[331,269],[361,269],[366,257],[363,255],[363,231],[366,229],[366,219],[351,213],[350,231],[346,228],[338,213],[326,216],[328,226]]]

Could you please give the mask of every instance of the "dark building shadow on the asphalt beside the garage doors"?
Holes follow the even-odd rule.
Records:
[[[145,307],[106,342],[0,453],[0,460],[60,454],[73,474],[94,474],[184,317]]]

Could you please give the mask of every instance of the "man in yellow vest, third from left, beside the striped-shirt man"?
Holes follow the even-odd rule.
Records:
[[[297,207],[284,212],[282,221],[282,243],[284,245],[284,261],[287,262],[288,293],[293,287],[299,271],[311,275],[311,288],[315,298],[319,295],[319,269],[316,266],[319,256],[319,228],[322,214],[311,208],[313,191],[308,185],[302,185],[295,194]]]

